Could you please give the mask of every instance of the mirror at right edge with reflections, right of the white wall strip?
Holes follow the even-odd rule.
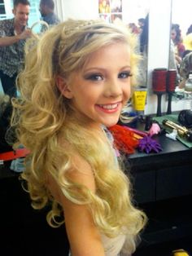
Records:
[[[181,1],[172,0],[169,68],[177,68],[177,87],[174,93],[174,99],[177,100],[192,99],[192,92],[185,90],[185,80],[192,70],[184,68],[187,61],[185,55],[192,51],[192,1],[183,0],[182,6],[185,8],[181,8]],[[173,54],[175,63],[172,60]]]

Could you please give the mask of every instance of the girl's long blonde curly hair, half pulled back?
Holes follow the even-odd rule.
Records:
[[[62,224],[56,217],[62,216],[63,210],[49,192],[46,172],[68,200],[89,205],[100,232],[114,237],[124,230],[133,252],[146,215],[133,205],[128,175],[116,162],[107,139],[73,117],[70,100],[61,95],[55,79],[68,77],[82,68],[89,55],[114,42],[125,42],[131,50],[133,84],[139,57],[135,52],[136,38],[127,28],[101,20],[68,20],[47,31],[27,50],[25,68],[17,81],[21,97],[13,102],[12,123],[17,126],[19,142],[31,152],[22,179],[27,181],[35,209],[51,205],[48,223],[54,227]],[[72,147],[63,148],[62,139]],[[75,152],[94,172],[95,193],[68,178],[68,170],[75,168],[72,162]]]

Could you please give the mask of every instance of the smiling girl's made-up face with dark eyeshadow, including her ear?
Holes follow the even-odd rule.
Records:
[[[130,69],[129,46],[121,42],[104,46],[90,55],[84,68],[70,75],[63,95],[90,124],[113,126],[129,100]]]

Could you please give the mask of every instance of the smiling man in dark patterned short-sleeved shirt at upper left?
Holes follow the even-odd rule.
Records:
[[[16,97],[15,79],[24,66],[24,44],[32,32],[27,28],[30,3],[13,2],[14,18],[0,20],[0,78],[4,94]]]

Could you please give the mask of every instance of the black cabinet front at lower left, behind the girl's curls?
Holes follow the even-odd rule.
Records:
[[[50,227],[47,210],[33,210],[18,174],[0,166],[0,176],[0,255],[68,256],[65,228]]]

